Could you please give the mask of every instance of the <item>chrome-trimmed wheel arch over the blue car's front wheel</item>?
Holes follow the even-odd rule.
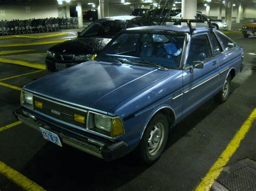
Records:
[[[170,105],[162,105],[161,107],[155,108],[151,114],[150,117],[147,118],[147,121],[143,127],[142,133],[140,135],[140,139],[142,139],[145,129],[147,127],[147,124],[149,124],[149,122],[151,121],[151,119],[156,116],[157,114],[164,114],[165,117],[168,119],[168,124],[169,124],[169,128],[171,128],[175,122],[176,122],[176,114],[175,111],[173,110],[173,108]]]

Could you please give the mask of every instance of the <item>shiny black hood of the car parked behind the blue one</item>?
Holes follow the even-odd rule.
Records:
[[[103,49],[111,38],[75,38],[57,44],[49,49],[54,53],[65,54],[95,54]]]

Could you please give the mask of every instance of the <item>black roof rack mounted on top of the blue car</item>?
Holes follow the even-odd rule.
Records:
[[[159,19],[151,19],[153,22],[160,22],[160,25],[165,25],[166,22],[173,22],[174,25],[180,25],[181,23],[187,23],[187,26],[190,28],[190,33],[193,34],[194,28],[191,23],[204,23],[206,20],[203,19],[168,19],[168,18],[159,18]],[[213,26],[210,19],[207,19],[208,28],[212,31]]]

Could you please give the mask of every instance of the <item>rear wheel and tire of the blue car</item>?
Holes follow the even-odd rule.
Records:
[[[228,96],[230,95],[230,89],[231,89],[231,74],[228,74],[223,84],[223,88],[221,88],[219,93],[214,96],[215,100],[219,103],[226,102]]]

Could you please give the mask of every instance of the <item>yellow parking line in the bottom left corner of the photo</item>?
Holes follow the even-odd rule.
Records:
[[[22,187],[24,190],[45,190],[43,187],[39,186],[37,183],[26,178],[26,176],[15,171],[11,167],[0,161],[0,173],[6,176],[11,181],[14,181],[18,186]]]

